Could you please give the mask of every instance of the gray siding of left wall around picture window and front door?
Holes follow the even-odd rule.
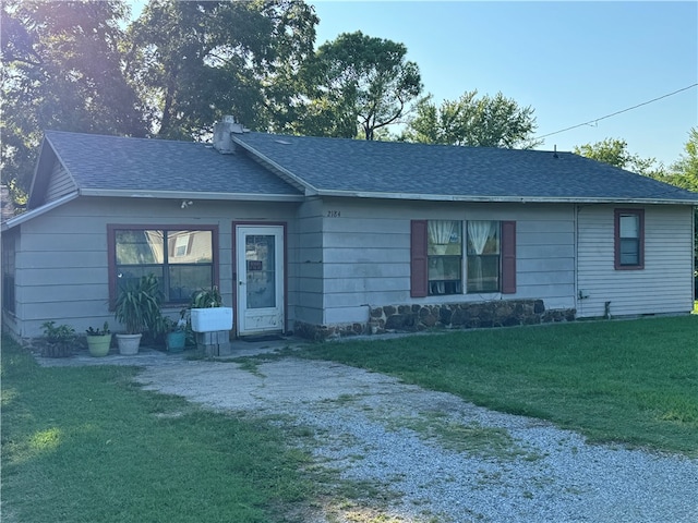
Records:
[[[233,220],[288,222],[289,252],[297,250],[294,204],[194,202],[186,209],[179,204],[79,198],[23,223],[16,259],[16,301],[17,316],[25,321],[16,333],[23,338],[40,336],[40,325],[51,319],[69,324],[77,332],[105,320],[118,329],[108,309],[109,223],[217,226],[220,290],[225,303],[233,306]],[[179,307],[169,312],[178,311]]]

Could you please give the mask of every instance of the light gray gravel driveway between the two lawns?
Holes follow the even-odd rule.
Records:
[[[374,521],[698,521],[698,460],[587,445],[539,419],[335,363],[284,357],[251,372],[230,362],[135,360],[146,389],[310,427],[318,463],[377,486],[372,514],[385,519]],[[334,510],[333,521],[370,521],[350,512]]]

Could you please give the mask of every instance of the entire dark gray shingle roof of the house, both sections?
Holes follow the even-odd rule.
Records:
[[[192,142],[58,131],[46,139],[83,192],[263,199],[297,198],[296,186],[304,186],[308,194],[435,200],[698,203],[698,193],[571,153],[265,133],[233,134],[249,150],[236,155]]]

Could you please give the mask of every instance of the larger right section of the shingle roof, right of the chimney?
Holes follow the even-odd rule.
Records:
[[[683,191],[571,153],[233,134],[318,194],[498,200],[698,202]],[[370,194],[365,194],[370,193]]]

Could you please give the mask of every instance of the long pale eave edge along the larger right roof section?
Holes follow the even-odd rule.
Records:
[[[317,191],[318,196],[376,198],[376,199],[410,199],[424,202],[483,202],[507,204],[645,204],[645,205],[696,205],[698,199],[676,198],[593,198],[593,197],[551,197],[551,196],[483,196],[468,194],[419,194],[419,193],[388,193],[368,191]]]

